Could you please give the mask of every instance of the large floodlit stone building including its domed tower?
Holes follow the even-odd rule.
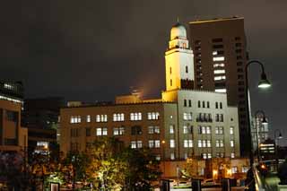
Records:
[[[149,147],[163,161],[238,158],[238,109],[226,93],[192,90],[193,51],[181,24],[171,29],[166,52],[167,90],[161,99],[120,96],[113,104],[61,109],[60,150],[85,151],[102,136],[115,136],[131,148]]]

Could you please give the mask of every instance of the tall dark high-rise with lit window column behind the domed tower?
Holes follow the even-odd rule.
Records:
[[[227,103],[238,106],[241,154],[248,153],[245,65],[248,60],[244,19],[233,17],[189,22],[194,51],[195,88],[226,92]]]

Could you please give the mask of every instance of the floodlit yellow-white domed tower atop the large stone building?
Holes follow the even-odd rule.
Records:
[[[194,59],[188,46],[187,30],[177,23],[170,30],[169,48],[165,52],[166,90],[193,89]]]

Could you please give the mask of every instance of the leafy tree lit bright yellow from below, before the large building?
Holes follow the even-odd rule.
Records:
[[[120,157],[121,143],[115,138],[102,138],[91,146],[86,173],[104,190],[121,190],[125,184],[126,161]]]

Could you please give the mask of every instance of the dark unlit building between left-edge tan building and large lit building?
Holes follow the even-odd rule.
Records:
[[[57,143],[59,111],[64,105],[58,97],[24,100],[22,124],[28,128],[30,154],[48,153],[51,144]]]

